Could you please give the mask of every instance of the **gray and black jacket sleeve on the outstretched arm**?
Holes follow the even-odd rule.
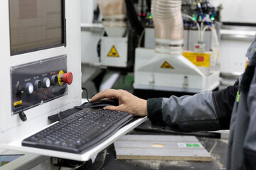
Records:
[[[179,98],[149,98],[149,120],[155,125],[181,132],[228,129],[237,91],[238,81],[222,91]]]

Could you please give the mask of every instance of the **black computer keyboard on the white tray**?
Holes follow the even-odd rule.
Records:
[[[82,153],[127,124],[129,113],[84,108],[22,141],[23,146]]]

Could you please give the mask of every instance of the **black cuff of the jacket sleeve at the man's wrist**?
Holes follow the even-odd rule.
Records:
[[[149,98],[146,103],[146,110],[149,120],[156,125],[165,125],[162,113],[163,98]]]

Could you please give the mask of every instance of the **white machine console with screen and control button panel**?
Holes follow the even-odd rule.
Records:
[[[35,152],[21,140],[80,105],[78,9],[80,1],[1,1],[1,149]]]

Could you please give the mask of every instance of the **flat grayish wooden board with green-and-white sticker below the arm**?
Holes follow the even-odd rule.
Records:
[[[194,136],[124,135],[114,148],[117,159],[211,161]]]

